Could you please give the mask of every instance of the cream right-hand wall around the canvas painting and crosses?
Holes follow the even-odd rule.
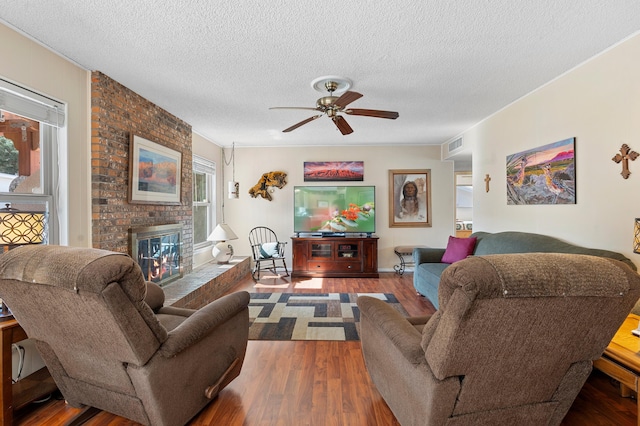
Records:
[[[614,250],[637,265],[640,160],[625,180],[620,146],[640,152],[640,36],[619,44],[496,113],[463,135],[473,147],[474,231],[530,231]],[[575,205],[507,205],[506,156],[575,137]]]

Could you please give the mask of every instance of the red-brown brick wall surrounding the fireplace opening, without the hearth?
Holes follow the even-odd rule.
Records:
[[[130,204],[130,135],[182,153],[181,205]],[[91,74],[93,247],[129,252],[129,229],[183,224],[183,272],[193,268],[191,126],[106,75]]]

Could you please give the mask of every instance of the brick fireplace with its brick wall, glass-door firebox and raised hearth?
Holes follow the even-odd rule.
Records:
[[[180,205],[129,203],[131,134],[182,153]],[[152,281],[166,276],[168,280],[161,283],[164,285],[166,305],[198,309],[247,276],[251,261],[249,258],[238,258],[234,259],[233,265],[222,265],[224,268],[210,264],[192,271],[191,136],[188,123],[106,75],[92,72],[93,247],[128,253],[138,260],[145,276]],[[181,227],[180,236],[163,237],[168,229],[166,226]],[[155,233],[158,230],[161,235]],[[135,244],[130,242],[132,234],[136,234]],[[176,261],[179,261],[179,266]],[[176,274],[178,271],[182,278]]]

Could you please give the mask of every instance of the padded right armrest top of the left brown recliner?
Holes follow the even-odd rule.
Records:
[[[182,324],[169,332],[169,337],[160,347],[160,354],[170,358],[211,333],[217,326],[248,309],[249,293],[239,291],[223,296],[198,309]],[[247,320],[246,327],[249,328]]]

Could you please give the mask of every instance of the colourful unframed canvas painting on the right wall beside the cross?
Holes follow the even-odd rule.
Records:
[[[507,204],[576,204],[575,138],[507,156]]]

